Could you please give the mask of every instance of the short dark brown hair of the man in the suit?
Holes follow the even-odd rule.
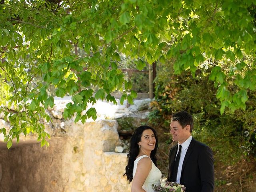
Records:
[[[178,121],[182,128],[184,128],[187,125],[190,125],[190,133],[193,130],[194,127],[194,120],[192,115],[190,115],[186,111],[180,111],[172,115],[172,121]]]

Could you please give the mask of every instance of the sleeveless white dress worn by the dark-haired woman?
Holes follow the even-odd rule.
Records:
[[[149,156],[146,155],[142,155],[140,157],[138,157],[135,161],[134,161],[134,166],[133,166],[133,177],[135,176],[136,173],[136,169],[137,169],[137,164],[138,162],[142,159],[142,158],[150,158]],[[151,159],[150,159],[151,160]],[[152,160],[151,160],[152,162]],[[146,192],[154,192],[153,188],[152,188],[152,184],[154,185],[160,185],[160,179],[162,177],[162,173],[161,171],[155,166],[155,164],[152,162],[152,168],[148,174],[148,177],[146,178],[142,189],[144,189]]]

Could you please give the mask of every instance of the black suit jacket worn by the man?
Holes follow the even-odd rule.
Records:
[[[177,150],[178,144],[170,149],[168,181],[171,181],[172,178]],[[186,187],[186,192],[213,192],[214,190],[212,150],[194,138],[192,138],[184,158],[180,184]]]

